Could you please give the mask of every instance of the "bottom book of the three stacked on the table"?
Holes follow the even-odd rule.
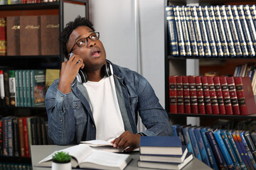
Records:
[[[138,161],[139,168],[150,168],[150,169],[182,169],[186,164],[191,162],[193,154],[187,154],[186,158],[182,163],[171,163],[171,162],[144,162]]]

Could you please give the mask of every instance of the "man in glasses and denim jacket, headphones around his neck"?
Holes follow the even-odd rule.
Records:
[[[142,135],[172,135],[168,115],[149,82],[106,60],[99,38],[92,23],[80,16],[60,35],[68,61],[46,94],[53,142],[68,145],[115,138],[114,147],[129,152],[139,147]],[[82,83],[78,72],[83,72]],[[137,132],[138,112],[144,132]]]

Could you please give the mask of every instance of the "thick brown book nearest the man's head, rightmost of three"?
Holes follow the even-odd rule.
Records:
[[[59,55],[59,16],[41,16],[41,55]]]

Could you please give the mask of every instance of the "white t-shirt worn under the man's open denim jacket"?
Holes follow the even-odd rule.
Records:
[[[83,84],[89,95],[90,108],[96,123],[96,140],[110,140],[124,132],[124,123],[117,101],[114,77]]]

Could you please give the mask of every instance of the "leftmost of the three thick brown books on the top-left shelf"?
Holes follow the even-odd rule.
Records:
[[[20,55],[20,18],[6,17],[7,55]]]

